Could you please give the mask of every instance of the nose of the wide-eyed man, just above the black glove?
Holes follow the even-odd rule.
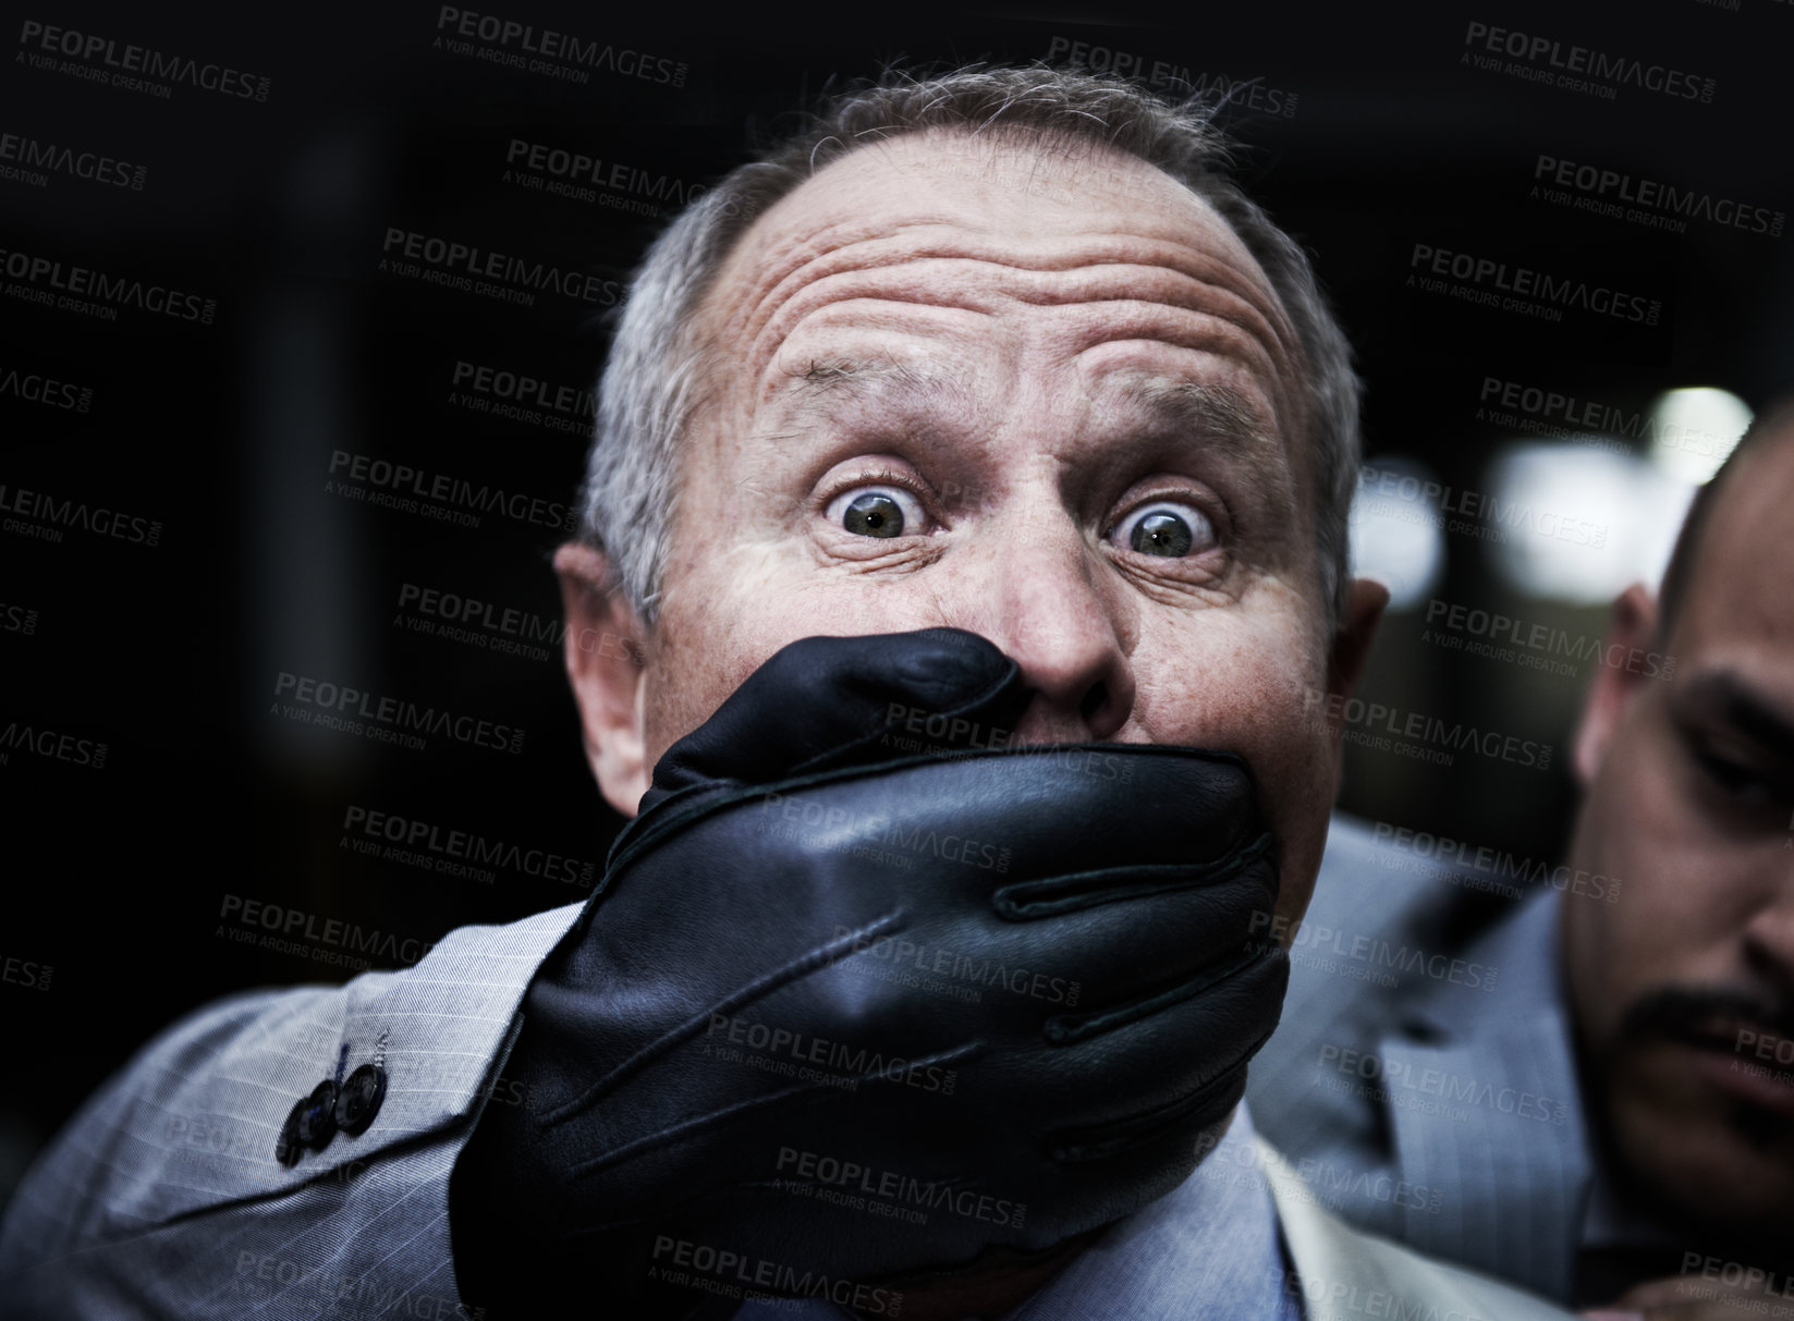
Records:
[[[987,528],[976,567],[954,574],[965,598],[944,614],[1021,666],[1014,743],[1112,739],[1134,713],[1137,607],[1057,501],[1010,513]]]

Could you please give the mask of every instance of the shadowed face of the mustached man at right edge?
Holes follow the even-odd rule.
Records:
[[[1794,443],[1728,477],[1665,652],[1604,671],[1577,748],[1564,958],[1624,1165],[1742,1242],[1794,1242]],[[1652,646],[1649,599],[1616,612]],[[1742,1034],[1755,1034],[1744,1036]]]

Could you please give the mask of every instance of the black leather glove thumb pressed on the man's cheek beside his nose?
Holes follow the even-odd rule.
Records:
[[[748,675],[655,766],[646,811],[691,784],[766,784],[893,756],[886,734],[920,727],[944,747],[990,747],[1023,707],[1021,668],[978,634],[804,637]],[[1001,722],[1001,723],[999,723]],[[938,730],[938,734],[936,734]]]

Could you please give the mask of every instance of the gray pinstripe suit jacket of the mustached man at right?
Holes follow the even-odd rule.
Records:
[[[1451,924],[1478,872],[1448,876],[1335,815],[1252,1118],[1354,1224],[1568,1301],[1593,1170],[1561,896],[1543,887],[1464,942]]]

